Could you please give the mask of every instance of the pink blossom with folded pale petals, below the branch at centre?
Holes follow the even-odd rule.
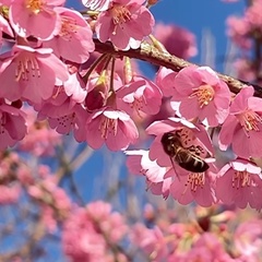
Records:
[[[134,110],[147,115],[156,115],[162,105],[162,92],[153,82],[142,76],[134,76],[133,81],[117,91],[118,108],[129,114]]]

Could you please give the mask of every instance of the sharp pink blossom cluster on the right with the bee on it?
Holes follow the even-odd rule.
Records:
[[[233,96],[212,69],[195,66],[178,73],[162,68],[157,83],[170,97],[175,117],[146,129],[155,136],[148,151],[126,152],[131,172],[144,175],[154,194],[180,204],[261,210],[261,168],[250,162],[262,156],[262,100],[253,97],[253,87]],[[221,152],[230,147],[235,155],[224,167],[215,162],[215,142]]]

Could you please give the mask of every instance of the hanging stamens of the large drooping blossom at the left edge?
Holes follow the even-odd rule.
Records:
[[[16,59],[15,80],[28,80],[31,76],[40,76],[38,61],[34,55],[28,52],[21,53]]]

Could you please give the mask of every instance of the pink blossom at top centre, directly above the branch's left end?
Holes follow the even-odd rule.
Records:
[[[117,48],[128,50],[140,47],[152,33],[154,17],[143,7],[144,0],[114,0],[109,10],[100,12],[96,34],[100,41],[110,40]]]

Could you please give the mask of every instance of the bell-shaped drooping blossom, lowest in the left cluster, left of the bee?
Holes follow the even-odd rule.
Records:
[[[133,120],[121,110],[98,109],[86,121],[86,141],[93,148],[99,148],[105,142],[111,151],[126,150],[138,138]]]

